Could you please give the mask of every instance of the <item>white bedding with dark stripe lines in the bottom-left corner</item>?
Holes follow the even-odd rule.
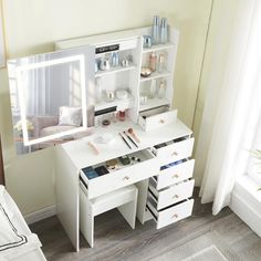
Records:
[[[27,253],[41,251],[40,247],[38,236],[30,231],[17,205],[0,186],[0,261],[21,260]]]

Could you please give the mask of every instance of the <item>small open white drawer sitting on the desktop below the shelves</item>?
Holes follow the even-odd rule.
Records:
[[[146,132],[175,123],[177,119],[177,109],[146,116],[139,115],[138,124]]]

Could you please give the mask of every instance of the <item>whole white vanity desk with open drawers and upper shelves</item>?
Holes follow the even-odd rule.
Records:
[[[95,113],[116,106],[116,111],[127,112],[128,121],[94,128],[92,135],[55,148],[56,212],[76,251],[79,251],[80,219],[84,217],[87,200],[133,184],[138,188],[137,218],[142,223],[155,219],[156,228],[159,229],[191,215],[194,159],[189,157],[194,146],[192,132],[176,119],[176,111],[168,111],[174,96],[174,71],[179,32],[169,28],[167,43],[144,48],[143,35],[150,34],[150,31],[152,28],[148,27],[55,43],[56,50],[60,51],[77,50],[80,46],[86,50],[91,48],[93,55],[87,59],[87,64],[92,77],[87,77],[90,83],[87,97],[98,93],[97,86],[102,86],[103,91],[113,92],[126,88],[129,93],[123,101],[93,102]],[[105,71],[100,66],[95,73],[95,63],[97,64],[101,58],[111,61],[114,52],[119,59],[130,58],[130,65],[119,64]],[[164,56],[164,70],[142,77],[142,67],[148,66],[153,54],[158,58]],[[164,84],[165,95],[163,97],[150,95],[147,103],[140,103],[143,93],[153,82],[158,86],[159,83]],[[164,107],[164,111],[160,107]],[[135,123],[139,123],[143,128]],[[128,128],[133,128],[140,139],[138,148],[132,146],[129,149],[118,135]],[[97,144],[96,138],[104,133],[115,134],[115,140],[108,145]],[[90,147],[88,142],[97,147],[98,155]],[[156,145],[160,146],[155,148]],[[85,186],[81,184],[84,181],[80,181],[82,168],[105,165],[109,159],[133,153],[137,153],[142,160],[90,180],[86,178]],[[83,222],[86,222],[84,218],[81,219],[82,225]],[[85,225],[81,231],[87,238],[83,227]]]

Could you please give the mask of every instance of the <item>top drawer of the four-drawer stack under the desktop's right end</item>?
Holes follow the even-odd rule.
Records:
[[[155,146],[153,153],[159,158],[160,165],[175,163],[191,156],[194,140],[189,136],[174,139]]]

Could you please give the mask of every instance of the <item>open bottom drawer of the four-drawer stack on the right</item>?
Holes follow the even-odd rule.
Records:
[[[194,199],[185,200],[181,203],[157,211],[153,201],[147,202],[147,209],[157,223],[157,229],[164,228],[185,219],[192,213]]]

